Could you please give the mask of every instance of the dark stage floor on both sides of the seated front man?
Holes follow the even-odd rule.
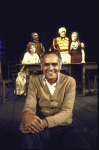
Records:
[[[13,91],[11,91],[12,95]],[[19,149],[21,138],[19,132],[20,113],[25,103],[25,96],[17,96],[6,101],[5,105],[0,100],[0,147],[2,149]],[[98,148],[98,95],[82,96],[77,91],[73,123],[79,132],[87,139],[93,149]]]

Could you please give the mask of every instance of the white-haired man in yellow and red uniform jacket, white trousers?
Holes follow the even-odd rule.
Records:
[[[53,39],[53,44],[49,51],[56,51],[62,57],[62,63],[71,63],[71,56],[69,54],[70,39],[66,37],[66,28],[61,27],[58,30],[60,37]]]

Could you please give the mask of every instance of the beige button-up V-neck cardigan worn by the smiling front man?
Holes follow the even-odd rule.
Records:
[[[36,76],[29,83],[22,113],[29,111],[40,118],[45,117],[48,121],[48,128],[71,124],[75,93],[76,82],[70,76],[60,73],[53,96],[47,85],[43,83],[43,74]]]

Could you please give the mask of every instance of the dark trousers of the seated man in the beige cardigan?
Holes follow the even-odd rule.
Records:
[[[73,124],[22,134],[22,149],[92,149]]]

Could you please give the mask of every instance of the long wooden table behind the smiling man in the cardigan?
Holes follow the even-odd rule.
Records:
[[[23,66],[24,64],[16,64],[17,66]],[[87,63],[70,63],[62,64],[62,70],[66,70],[69,76],[72,73],[73,65],[79,65],[82,68],[82,95],[85,96],[85,72],[86,69],[98,69],[98,62],[87,62]],[[26,70],[26,88],[28,87],[28,79],[31,71],[41,71],[40,64],[25,64]]]

